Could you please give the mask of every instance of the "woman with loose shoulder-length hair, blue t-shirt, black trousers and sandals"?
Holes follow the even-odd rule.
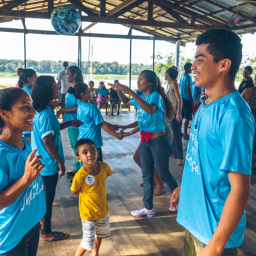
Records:
[[[31,145],[33,148],[38,148],[36,154],[44,157],[42,163],[45,164],[42,170],[42,179],[45,190],[46,213],[44,228],[41,232],[42,241],[59,241],[68,236],[65,232],[52,232],[51,230],[52,203],[58,182],[58,172],[60,170],[60,177],[66,172],[60,130],[70,125],[75,127],[81,125],[79,120],[59,123],[51,108],[52,100],[58,99],[59,93],[60,88],[52,76],[38,77],[31,93],[33,107],[36,110],[34,130],[31,133]]]

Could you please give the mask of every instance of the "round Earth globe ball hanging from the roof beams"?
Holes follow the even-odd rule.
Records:
[[[60,5],[51,13],[52,27],[60,35],[74,35],[81,26],[81,17],[73,6]]]

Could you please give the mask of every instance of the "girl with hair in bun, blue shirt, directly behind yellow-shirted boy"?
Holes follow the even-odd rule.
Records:
[[[71,90],[72,89],[72,90]],[[79,136],[77,140],[88,138],[95,142],[97,150],[99,150],[99,158],[97,161],[103,161],[101,147],[103,145],[101,129],[108,132],[110,135],[122,140],[123,133],[115,132],[111,124],[105,122],[102,115],[95,104],[88,103],[92,98],[91,91],[87,84],[76,84],[74,88],[70,89],[70,93],[74,93],[76,99],[80,101],[77,108],[77,118],[83,122],[79,127]]]

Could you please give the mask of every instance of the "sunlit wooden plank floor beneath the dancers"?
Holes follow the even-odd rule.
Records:
[[[111,124],[130,124],[136,120],[133,112],[120,116],[104,116]],[[67,171],[73,169],[74,154],[70,148],[67,130],[61,131]],[[142,205],[143,188],[140,187],[141,170],[133,161],[133,154],[140,143],[140,135],[134,134],[118,141],[102,131],[102,147],[113,175],[107,180],[110,207],[111,236],[103,239],[100,256],[179,256],[182,255],[184,228],[176,222],[176,213],[168,211],[170,191],[154,197],[155,218],[134,218],[130,212]],[[184,140],[184,153],[188,141]],[[180,184],[182,166],[170,157],[170,170]],[[250,200],[246,208],[247,225],[239,255],[256,255],[256,180],[252,181]],[[52,211],[52,230],[70,234],[67,240],[54,243],[40,242],[38,256],[74,255],[81,242],[82,228],[79,218],[78,197],[70,193],[67,176],[61,177],[56,189]],[[90,255],[86,252],[85,255]]]

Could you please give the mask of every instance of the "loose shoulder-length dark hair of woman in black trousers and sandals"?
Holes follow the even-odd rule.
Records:
[[[51,101],[53,97],[53,83],[54,77],[52,76],[40,76],[36,78],[31,92],[33,107],[36,111],[41,112]]]

